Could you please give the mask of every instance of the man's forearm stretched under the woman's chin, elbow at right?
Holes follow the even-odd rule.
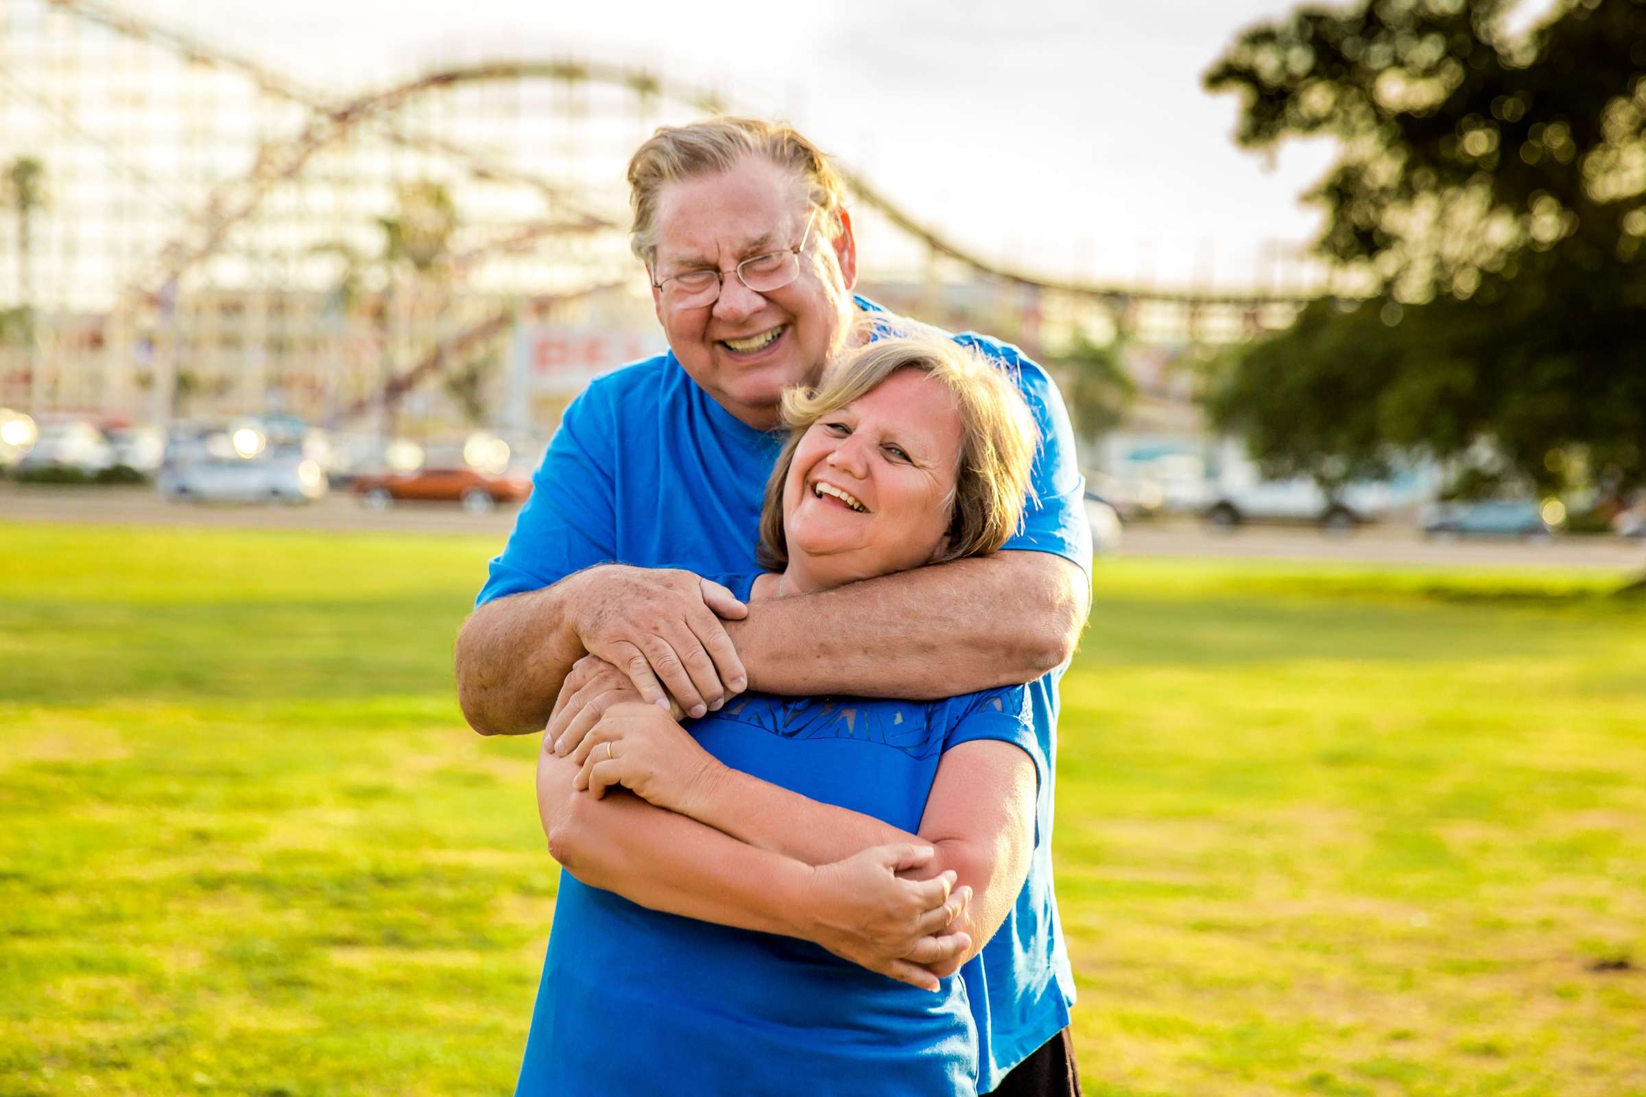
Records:
[[[996,553],[749,605],[726,630],[749,686],[914,701],[1014,686],[1060,666],[1091,587],[1049,553]]]

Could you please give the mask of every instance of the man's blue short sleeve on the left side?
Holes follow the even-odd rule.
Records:
[[[616,558],[614,408],[601,383],[571,401],[532,477],[532,497],[476,605],[553,586]]]

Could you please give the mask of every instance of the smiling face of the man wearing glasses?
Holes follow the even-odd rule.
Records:
[[[658,192],[652,281],[709,268],[724,280],[719,299],[695,308],[653,288],[657,319],[691,380],[762,431],[777,426],[785,388],[816,383],[851,326],[858,257],[844,212],[838,232],[831,217],[811,219],[800,275],[787,286],[756,293],[734,273],[746,258],[798,245],[808,217],[805,184],[759,156]]]

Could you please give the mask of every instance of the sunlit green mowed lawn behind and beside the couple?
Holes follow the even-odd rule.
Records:
[[[509,1090],[556,868],[535,737],[453,699],[492,551],[0,523],[0,1094]],[[1615,582],[1101,564],[1055,845],[1086,1092],[1646,1094]]]

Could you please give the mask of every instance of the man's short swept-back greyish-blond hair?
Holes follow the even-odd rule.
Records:
[[[647,266],[657,258],[657,192],[665,183],[729,171],[749,156],[788,168],[807,186],[807,201],[823,214],[818,229],[835,238],[830,224],[846,201],[846,183],[828,155],[780,122],[719,115],[690,125],[658,127],[629,160],[629,204],[634,225],[629,247]]]

